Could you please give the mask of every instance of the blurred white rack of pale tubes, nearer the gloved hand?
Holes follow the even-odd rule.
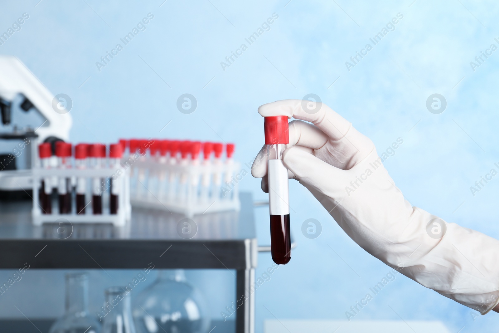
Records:
[[[154,145],[158,145],[158,140]],[[240,210],[238,182],[241,179],[236,178],[240,164],[232,158],[225,161],[196,160],[192,156],[181,159],[176,152],[169,157],[158,156],[154,149],[133,155],[121,162],[130,166],[133,207],[165,210],[187,217]]]

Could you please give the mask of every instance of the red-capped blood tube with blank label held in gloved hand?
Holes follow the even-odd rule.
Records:
[[[289,143],[287,116],[265,117],[264,127],[272,260],[284,265],[291,259],[288,172],[282,163],[282,152]]]

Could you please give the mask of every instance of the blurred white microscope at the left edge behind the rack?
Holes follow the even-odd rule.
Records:
[[[17,57],[0,55],[0,199],[31,195],[37,143],[69,139],[72,119],[64,103]]]

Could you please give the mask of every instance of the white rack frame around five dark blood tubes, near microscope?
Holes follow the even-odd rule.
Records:
[[[130,205],[130,175],[129,170],[122,168],[120,165],[111,165],[107,160],[100,168],[86,168],[78,169],[74,165],[71,168],[57,168],[56,162],[51,163],[51,167],[43,168],[41,166],[41,161],[38,156],[38,145],[35,145],[35,152],[32,155],[32,179],[33,179],[33,207],[32,207],[32,223],[33,225],[42,225],[43,223],[112,223],[114,226],[124,226],[131,217],[131,205]],[[54,158],[55,156],[52,156]],[[60,214],[59,211],[52,207],[51,212],[46,214],[42,212],[42,208],[39,201],[38,193],[41,188],[42,180],[51,179],[49,186],[56,187],[54,182],[56,179],[66,178],[70,180],[72,184],[78,178],[86,179],[86,207],[84,214],[77,214],[75,205],[72,204],[72,211],[68,214]],[[103,182],[104,188],[102,191],[102,212],[101,214],[93,214],[91,198],[92,198],[92,179],[102,178],[105,180]],[[118,193],[118,209],[116,214],[110,214],[109,212],[109,195],[110,189],[106,187],[110,179],[113,180],[113,184],[116,184],[119,189]],[[75,193],[71,193],[72,199],[75,197]],[[74,201],[74,200],[73,200]]]

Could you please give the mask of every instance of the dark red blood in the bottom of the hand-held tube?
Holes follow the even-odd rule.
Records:
[[[277,265],[287,264],[291,260],[289,214],[270,215],[270,247],[272,260]]]

